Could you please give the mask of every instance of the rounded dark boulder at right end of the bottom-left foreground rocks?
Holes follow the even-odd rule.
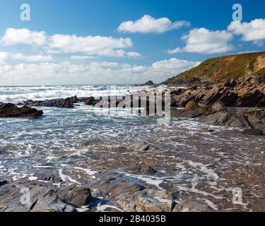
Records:
[[[56,194],[62,201],[79,207],[88,206],[92,198],[90,189],[85,186],[71,185],[59,187]]]

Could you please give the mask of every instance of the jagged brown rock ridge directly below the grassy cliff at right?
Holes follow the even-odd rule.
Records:
[[[224,102],[226,107],[265,107],[265,83],[228,81],[196,85],[171,95],[172,107],[185,107],[191,100],[201,105]]]

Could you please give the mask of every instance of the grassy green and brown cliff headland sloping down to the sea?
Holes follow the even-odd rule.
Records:
[[[167,79],[165,83],[189,83],[193,80],[213,83],[249,76],[265,76],[265,52],[207,59],[195,68]]]

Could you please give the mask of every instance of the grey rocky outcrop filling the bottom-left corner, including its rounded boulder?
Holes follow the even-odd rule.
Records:
[[[50,182],[20,181],[0,186],[1,212],[76,212],[90,203],[90,189]]]

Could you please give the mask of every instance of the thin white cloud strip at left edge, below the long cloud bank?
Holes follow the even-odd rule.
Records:
[[[49,62],[53,61],[53,57],[51,55],[42,56],[42,55],[30,55],[26,56],[20,53],[8,53],[8,52],[0,52],[0,60],[4,61],[6,59],[14,59],[20,61],[28,61],[28,62]]]

